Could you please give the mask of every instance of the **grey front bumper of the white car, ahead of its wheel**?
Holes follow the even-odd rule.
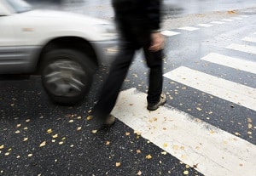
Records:
[[[91,42],[93,48],[96,50],[99,65],[108,66],[113,62],[116,54],[118,53],[118,41],[98,41]]]

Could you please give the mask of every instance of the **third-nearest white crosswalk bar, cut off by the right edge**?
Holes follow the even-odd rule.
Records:
[[[224,65],[235,68],[237,70],[248,71],[256,74],[256,62],[241,60],[238,58],[215,53],[207,54],[205,57],[201,58],[201,60],[206,60],[218,65]]]

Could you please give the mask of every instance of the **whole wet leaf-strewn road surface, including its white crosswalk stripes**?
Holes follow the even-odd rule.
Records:
[[[153,115],[131,109],[144,102],[141,95],[148,88],[148,69],[138,52],[120,95],[135,96],[137,102],[128,99],[123,105],[125,100],[120,100],[113,128],[97,133],[87,117],[108,69],[96,74],[90,94],[75,106],[53,104],[39,77],[1,76],[0,175],[214,175],[211,167],[223,171],[215,175],[240,175],[245,168],[242,175],[253,175],[255,167],[249,163],[256,156],[256,108],[250,100],[255,100],[256,88],[255,19],[254,9],[166,19],[165,107]],[[231,61],[224,65],[216,54]],[[137,94],[125,92],[131,88]],[[169,126],[161,126],[166,124],[161,117],[169,119]],[[183,133],[183,138],[176,137]],[[238,165],[227,165],[226,153]]]

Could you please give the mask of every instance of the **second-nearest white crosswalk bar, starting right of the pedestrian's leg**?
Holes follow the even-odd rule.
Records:
[[[166,73],[164,76],[191,88],[199,89],[207,94],[212,94],[256,111],[256,88],[213,77],[183,66]]]

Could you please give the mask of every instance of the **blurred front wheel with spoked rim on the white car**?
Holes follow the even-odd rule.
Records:
[[[89,92],[95,65],[73,49],[55,49],[44,54],[41,77],[44,89],[55,103],[75,105]]]

